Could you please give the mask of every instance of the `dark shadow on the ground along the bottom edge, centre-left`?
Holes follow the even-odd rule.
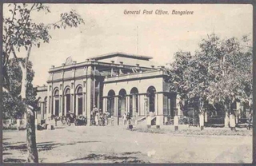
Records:
[[[139,160],[138,157],[136,156],[129,156],[129,155],[134,155],[134,154],[139,154],[141,152],[123,152],[120,154],[111,154],[111,155],[105,155],[105,154],[94,154],[91,153],[85,157],[81,157],[78,159],[70,160],[67,163],[76,163],[81,161],[95,161],[95,163],[114,163],[114,164],[125,164],[125,163],[130,163],[130,164],[140,164],[140,163],[149,163],[143,160]]]

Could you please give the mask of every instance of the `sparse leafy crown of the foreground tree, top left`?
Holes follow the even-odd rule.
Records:
[[[10,17],[3,18],[3,64],[4,76],[6,75],[6,64],[10,58],[11,53],[14,58],[18,60],[17,50],[37,46],[42,43],[49,43],[50,30],[60,29],[66,27],[78,27],[79,24],[84,23],[83,19],[74,10],[60,15],[60,18],[50,24],[43,22],[36,23],[31,18],[34,12],[44,11],[46,14],[50,13],[50,8],[42,3],[34,4],[9,4],[8,9]],[[29,59],[28,55],[28,59]],[[24,64],[26,65],[26,64]],[[5,81],[6,81],[6,77]]]

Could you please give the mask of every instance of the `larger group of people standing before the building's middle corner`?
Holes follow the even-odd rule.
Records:
[[[94,105],[94,109],[91,112],[91,124],[96,126],[107,125],[108,113],[102,113],[102,109],[99,109]]]

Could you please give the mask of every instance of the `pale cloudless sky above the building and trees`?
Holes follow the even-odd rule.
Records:
[[[33,47],[30,61],[34,65],[34,85],[44,85],[51,65],[60,66],[67,57],[86,61],[106,53],[123,52],[153,57],[159,65],[174,61],[174,53],[194,53],[198,42],[207,34],[221,38],[242,38],[252,35],[253,7],[225,4],[45,4],[50,14],[35,12],[34,22],[52,23],[60,14],[76,10],[85,24],[78,28],[50,30],[50,43]],[[8,16],[4,5],[4,17]],[[141,10],[141,14],[124,14],[124,10]],[[153,14],[142,14],[153,10]],[[154,14],[155,10],[169,14]],[[172,11],[193,11],[193,14],[172,14]],[[25,51],[19,53],[24,57]]]

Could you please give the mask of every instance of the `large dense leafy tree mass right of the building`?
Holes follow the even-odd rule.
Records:
[[[179,51],[186,55],[186,52]],[[226,114],[234,101],[249,101],[252,94],[252,47],[244,36],[220,39],[211,34],[190,58],[178,58],[170,68],[170,85],[187,101],[223,105]],[[184,65],[180,61],[183,61]],[[176,67],[175,67],[176,66]],[[178,66],[178,69],[177,69]],[[178,72],[177,72],[178,71]],[[178,76],[173,76],[175,73]],[[182,79],[181,79],[182,77]]]

